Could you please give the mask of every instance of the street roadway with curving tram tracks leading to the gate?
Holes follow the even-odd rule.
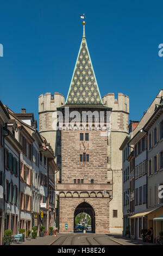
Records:
[[[100,234],[68,234],[61,235],[52,245],[120,245],[112,241],[108,235]]]

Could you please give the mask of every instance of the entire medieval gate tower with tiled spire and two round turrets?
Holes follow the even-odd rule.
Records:
[[[68,119],[66,108],[70,113]],[[95,129],[95,119],[89,126],[85,117],[77,119],[76,123],[80,126],[83,124],[81,120],[85,120],[82,131],[72,129],[69,124],[74,112],[81,115],[88,111],[96,112],[98,116],[103,111],[104,126],[107,113],[111,113],[108,133],[102,128]],[[63,129],[59,130],[57,114],[60,113]],[[61,233],[72,233],[74,217],[86,211],[91,216],[93,232],[122,234],[122,158],[119,148],[128,134],[128,115],[127,95],[118,93],[116,99],[114,93],[108,93],[101,98],[86,44],[84,24],[82,44],[66,101],[59,93],[39,96],[40,134],[51,142],[60,167],[57,202]]]

